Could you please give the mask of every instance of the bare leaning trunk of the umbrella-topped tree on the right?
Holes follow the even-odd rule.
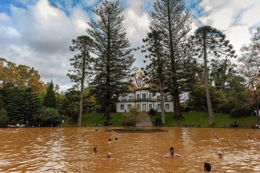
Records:
[[[212,105],[211,105],[211,100],[210,100],[210,95],[208,90],[208,64],[207,64],[205,37],[203,40],[203,49],[204,49],[204,83],[205,83],[206,99],[207,99],[207,106],[208,106],[209,125],[214,126],[215,123],[214,123]]]

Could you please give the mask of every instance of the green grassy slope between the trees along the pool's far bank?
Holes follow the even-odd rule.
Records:
[[[122,126],[122,116],[125,113],[111,113],[113,126]],[[173,112],[165,113],[166,126],[182,126],[183,124],[201,124],[202,127],[209,127],[209,118],[208,114],[204,112],[182,112],[185,119],[181,121],[174,120]],[[94,124],[103,124],[102,120],[103,113],[92,113],[82,115],[81,126],[93,126]],[[151,119],[154,120],[158,115],[152,116]],[[241,127],[244,125],[251,125],[257,123],[256,116],[247,116],[247,117],[231,117],[227,114],[214,114],[214,121],[216,123],[215,127],[224,127],[224,124],[229,127],[232,122],[237,122]],[[77,122],[72,122],[72,119],[69,118],[64,122],[64,126],[77,126]]]

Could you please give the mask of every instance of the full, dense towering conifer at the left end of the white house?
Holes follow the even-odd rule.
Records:
[[[98,101],[105,107],[105,125],[111,125],[109,107],[112,96],[124,92],[130,85],[126,79],[130,68],[135,61],[132,48],[126,37],[126,28],[122,22],[125,20],[121,14],[123,8],[119,1],[102,0],[92,10],[99,18],[91,19],[87,33],[95,40],[94,52],[97,55],[95,62],[95,78],[91,85]]]

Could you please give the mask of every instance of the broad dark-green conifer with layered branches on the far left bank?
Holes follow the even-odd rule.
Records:
[[[32,87],[24,88],[18,92],[17,96],[10,100],[6,106],[10,120],[32,120],[32,116],[41,109],[42,103],[37,92],[32,91]]]

